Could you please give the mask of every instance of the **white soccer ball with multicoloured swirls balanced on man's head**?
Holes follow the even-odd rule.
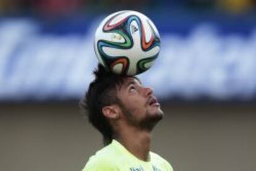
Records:
[[[119,75],[148,70],[160,52],[160,35],[148,17],[122,10],[106,17],[95,33],[95,52],[100,64]]]

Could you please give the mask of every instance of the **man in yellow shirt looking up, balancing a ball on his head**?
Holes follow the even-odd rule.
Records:
[[[151,130],[163,118],[153,91],[136,77],[114,75],[98,65],[81,102],[105,148],[90,157],[88,170],[167,170],[171,165],[150,151]]]

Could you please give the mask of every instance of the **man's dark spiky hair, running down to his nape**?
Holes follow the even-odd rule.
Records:
[[[119,104],[116,96],[117,86],[121,86],[126,77],[110,73],[100,64],[93,73],[95,80],[90,83],[80,107],[93,127],[103,135],[103,143],[108,145],[113,140],[113,130],[102,109],[111,104]]]

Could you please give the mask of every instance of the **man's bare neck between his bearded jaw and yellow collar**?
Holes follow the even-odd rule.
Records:
[[[137,128],[122,128],[115,137],[130,153],[142,161],[149,160],[151,133]]]

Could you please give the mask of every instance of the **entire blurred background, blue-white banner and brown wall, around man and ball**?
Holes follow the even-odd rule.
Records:
[[[174,171],[252,171],[255,0],[0,0],[0,170],[81,170],[102,147],[79,100],[97,65],[95,28],[117,10],[161,35],[139,75],[163,104],[152,151]]]

